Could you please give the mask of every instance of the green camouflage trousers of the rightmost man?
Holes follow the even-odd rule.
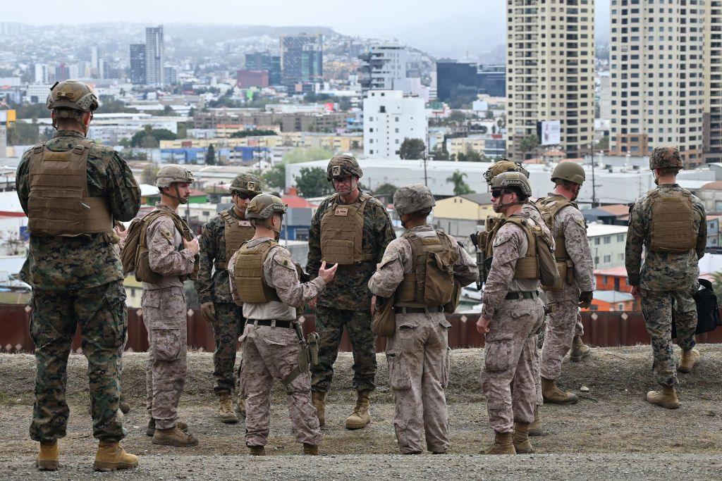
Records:
[[[678,384],[671,343],[672,317],[677,325],[677,345],[682,350],[695,347],[697,304],[692,292],[642,290],[642,314],[654,354],[652,369],[656,381],[664,386]]]

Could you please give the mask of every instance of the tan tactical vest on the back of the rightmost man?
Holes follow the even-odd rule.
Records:
[[[697,229],[690,191],[682,189],[661,195],[658,190],[651,190],[648,195],[652,201],[649,249],[671,254],[695,249]]]

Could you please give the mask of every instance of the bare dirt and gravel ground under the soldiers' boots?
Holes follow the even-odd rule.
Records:
[[[492,441],[486,402],[481,394],[481,350],[455,350],[447,397],[451,450],[446,456],[399,456],[393,433],[393,401],[386,360],[378,357],[378,389],[373,395],[372,423],[346,431],[344,420],[355,393],[352,358],[339,356],[326,409],[321,452],[326,456],[288,456],[301,446],[291,433],[285,395],[274,389],[270,456],[246,456],[243,423],[225,425],[216,418],[212,393],[212,356],[188,356],[186,392],[180,414],[199,438],[196,448],[155,446],[145,436],[144,353],[124,356],[123,392],[133,409],[124,425],[123,446],[142,456],[134,472],[112,477],[164,479],[495,479],[547,480],[596,477],[635,479],[684,477],[722,479],[722,345],[699,345],[702,362],[692,374],[680,375],[682,408],[664,410],[644,402],[653,388],[651,348],[595,348],[583,363],[567,363],[560,385],[576,392],[578,405],[541,407],[545,436],[533,438],[536,454],[482,456]],[[85,479],[96,442],[92,438],[87,394],[87,363],[71,356],[68,436],[61,442],[61,469],[39,474],[34,468],[38,444],[27,431],[32,416],[35,358],[0,355],[0,479]],[[581,392],[586,386],[588,392]]]

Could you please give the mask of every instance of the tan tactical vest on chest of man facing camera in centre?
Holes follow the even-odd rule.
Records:
[[[374,260],[373,255],[362,251],[363,211],[370,198],[361,193],[361,202],[339,204],[339,195],[334,194],[321,219],[321,260],[329,265]]]

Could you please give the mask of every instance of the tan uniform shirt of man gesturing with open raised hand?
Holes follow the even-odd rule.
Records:
[[[266,242],[269,239],[269,237],[251,239],[248,241],[248,247],[261,244],[261,242]],[[277,246],[269,252],[264,261],[264,281],[270,287],[276,289],[281,302],[243,303],[238,298],[238,292],[235,290],[235,280],[233,279],[236,255],[238,255],[238,252],[232,255],[228,262],[228,279],[233,301],[239,306],[243,306],[243,317],[246,319],[293,320],[296,318],[295,308],[303,306],[305,302],[318,296],[326,288],[326,282],[321,277],[307,283],[300,283],[291,253],[285,247]]]

